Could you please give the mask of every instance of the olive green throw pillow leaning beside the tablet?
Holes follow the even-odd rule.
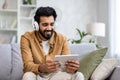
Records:
[[[107,52],[107,48],[95,50],[90,52],[80,60],[80,67],[78,71],[83,73],[85,80],[88,80],[90,78],[95,68],[102,61],[106,52]]]

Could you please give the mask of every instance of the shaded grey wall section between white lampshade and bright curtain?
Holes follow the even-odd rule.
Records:
[[[98,0],[97,3],[98,3],[97,22],[103,22],[106,25],[106,36],[98,37],[98,43],[104,46],[109,46],[109,26],[108,26],[109,0]]]

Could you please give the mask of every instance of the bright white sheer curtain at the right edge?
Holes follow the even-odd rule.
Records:
[[[112,57],[120,57],[120,0],[109,2],[109,42]]]

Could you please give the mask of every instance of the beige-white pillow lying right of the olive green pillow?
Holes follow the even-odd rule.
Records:
[[[91,80],[105,80],[117,65],[117,59],[103,59],[91,76]]]

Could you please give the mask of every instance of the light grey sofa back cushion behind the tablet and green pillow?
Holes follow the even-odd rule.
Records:
[[[96,45],[94,43],[70,44],[71,54],[78,54],[79,60],[94,50],[96,50]]]

